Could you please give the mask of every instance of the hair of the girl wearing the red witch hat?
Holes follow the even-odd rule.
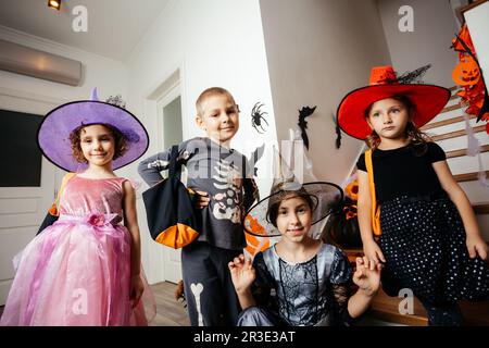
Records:
[[[410,121],[408,122],[405,126],[405,137],[411,139],[411,145],[417,146],[421,145],[424,149],[422,152],[425,152],[427,149],[426,142],[431,141],[428,135],[419,130],[418,127],[414,124],[413,116],[416,113],[416,105],[413,104],[411,99],[406,96],[399,95],[399,96],[392,96],[390,97],[392,99],[396,99],[397,101],[400,101],[406,109],[408,113],[410,115]],[[372,105],[374,103],[369,104],[368,108],[365,109],[365,119],[368,119],[368,114],[371,112]],[[380,137],[377,135],[375,130],[372,130],[372,134],[366,137],[365,139],[366,145],[372,150],[377,149],[378,145],[380,144]],[[417,148],[417,147],[416,147]]]

